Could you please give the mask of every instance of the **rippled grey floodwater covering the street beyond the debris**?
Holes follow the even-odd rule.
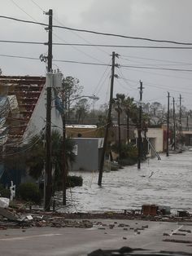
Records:
[[[153,172],[153,173],[152,173]],[[83,186],[68,190],[70,211],[141,209],[143,204],[167,205],[172,212],[192,211],[192,152],[161,155],[137,166],[103,173],[98,187],[98,172],[72,172],[81,175]],[[151,176],[151,177],[150,177]]]

